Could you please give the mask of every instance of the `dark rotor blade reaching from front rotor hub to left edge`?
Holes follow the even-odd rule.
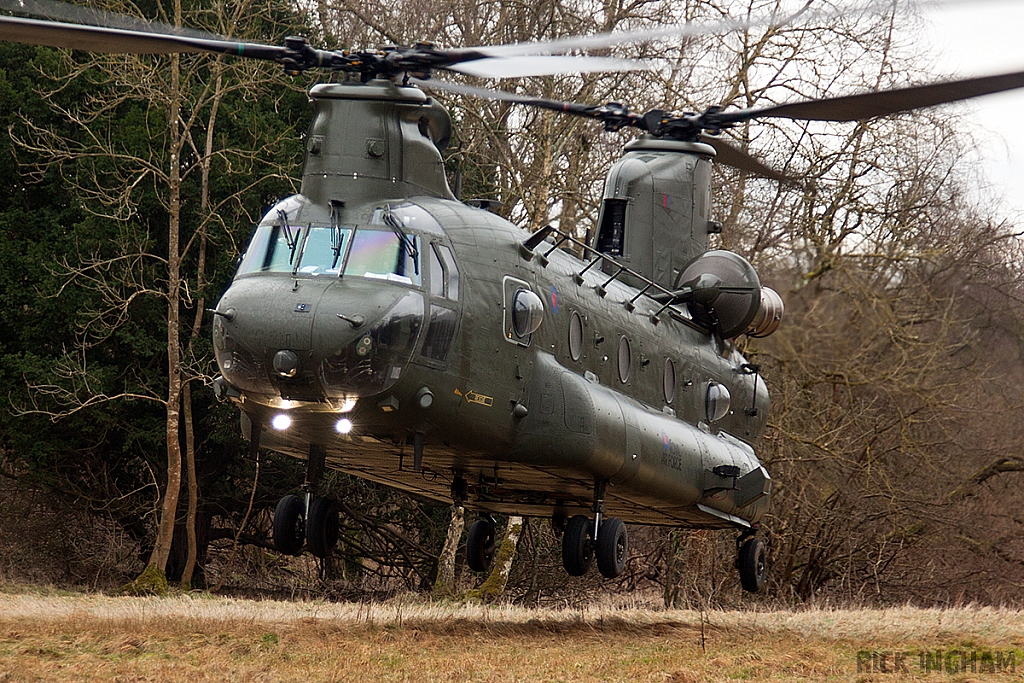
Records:
[[[285,48],[275,45],[2,15],[0,15],[0,40],[112,54],[213,52],[215,54],[276,60],[287,52]]]

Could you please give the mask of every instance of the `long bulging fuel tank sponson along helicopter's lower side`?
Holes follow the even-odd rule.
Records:
[[[643,405],[550,354],[538,354],[535,372],[535,409],[521,422],[512,460],[629,483],[631,497],[652,506],[702,503],[750,522],[767,511],[771,478],[743,441]]]

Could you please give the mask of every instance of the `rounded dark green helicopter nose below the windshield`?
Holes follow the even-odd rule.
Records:
[[[418,291],[364,279],[297,291],[290,280],[241,279],[218,305],[234,311],[214,321],[221,374],[257,400],[383,391],[400,378],[424,314]]]

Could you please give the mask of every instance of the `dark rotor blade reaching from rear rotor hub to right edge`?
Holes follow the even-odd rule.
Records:
[[[1024,72],[982,76],[896,90],[865,92],[845,97],[810,99],[763,109],[739,110],[716,115],[722,123],[751,119],[799,119],[801,121],[862,121],[910,110],[955,102],[995,92],[1024,88]]]

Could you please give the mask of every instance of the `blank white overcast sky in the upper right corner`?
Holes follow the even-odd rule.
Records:
[[[929,37],[941,73],[957,76],[1024,71],[1024,1],[967,0],[927,9]],[[987,95],[977,114],[982,154],[992,184],[1008,208],[1024,215],[1024,89]]]

